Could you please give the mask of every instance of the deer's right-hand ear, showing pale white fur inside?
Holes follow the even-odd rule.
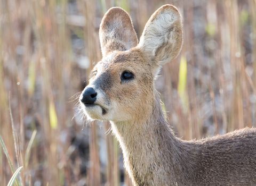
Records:
[[[178,56],[183,43],[181,16],[176,7],[164,5],[148,20],[140,47],[152,61],[163,65]]]

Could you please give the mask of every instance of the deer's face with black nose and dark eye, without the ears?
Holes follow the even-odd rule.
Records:
[[[153,99],[153,66],[138,49],[115,51],[102,58],[81,95],[82,107],[91,119],[135,120]],[[141,114],[143,115],[143,114]]]

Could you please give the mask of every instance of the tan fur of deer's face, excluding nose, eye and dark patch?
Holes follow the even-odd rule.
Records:
[[[95,104],[105,108],[107,114],[101,115],[100,107],[95,106],[85,109],[86,115],[90,119],[113,122],[145,120],[148,114],[151,113],[148,108],[154,100],[153,69],[156,69],[155,64],[148,64],[146,56],[138,48],[132,48],[124,52],[115,51],[109,55],[111,58],[106,56],[95,65],[92,72],[97,71],[97,74],[89,82],[89,87],[94,87],[97,91]],[[134,63],[137,63],[137,65],[134,65]],[[125,70],[134,74],[133,80],[121,82],[120,77]],[[106,71],[110,74],[112,85],[111,88],[102,92],[102,90],[93,86],[93,83],[102,72]]]

